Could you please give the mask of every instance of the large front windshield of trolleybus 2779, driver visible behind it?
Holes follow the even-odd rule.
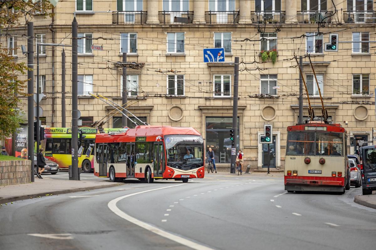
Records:
[[[167,166],[182,170],[203,166],[203,139],[201,136],[166,136]]]

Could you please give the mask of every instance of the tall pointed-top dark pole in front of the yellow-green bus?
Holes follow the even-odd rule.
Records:
[[[77,127],[77,21],[72,22],[72,177],[70,180],[78,181],[78,127]]]

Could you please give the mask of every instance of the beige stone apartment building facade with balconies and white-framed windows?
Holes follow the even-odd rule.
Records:
[[[33,22],[38,42],[71,44],[71,22],[74,17],[77,19],[82,38],[78,107],[83,125],[113,111],[89,93],[99,93],[121,104],[122,68],[118,62],[122,52],[127,52],[127,62],[137,65],[127,68],[128,100],[132,101],[129,110],[151,125],[195,128],[205,139],[206,148],[214,149],[217,165],[223,167],[229,165],[230,157],[233,62],[240,57],[239,147],[245,154],[245,165],[252,169],[266,167],[265,148],[257,138],[264,124],[272,124],[271,148],[275,157],[270,164],[283,169],[286,128],[297,123],[299,113],[299,70],[294,55],[310,54],[329,117],[359,140],[373,138],[376,50],[373,42],[365,41],[376,40],[376,5],[369,0],[334,3],[335,6],[326,0],[66,0],[58,3],[53,18],[36,16]],[[14,36],[8,36],[6,43],[17,60],[26,62],[20,49],[12,49],[26,45],[22,36],[26,28],[12,32]],[[338,51],[324,51],[329,33],[338,33]],[[92,50],[91,45],[103,46],[103,51]],[[214,47],[224,48],[225,62],[204,62],[203,49]],[[276,61],[266,58],[265,53],[263,58],[265,51],[276,51]],[[42,117],[50,127],[61,127],[61,53],[61,47],[45,47],[41,51]],[[65,48],[65,53],[69,127],[71,48]],[[303,59],[303,71],[311,104],[315,113],[321,114],[307,57]],[[307,96],[303,99],[306,118]],[[26,102],[24,99],[20,105],[25,112]],[[105,125],[119,126],[119,114]],[[351,154],[353,151],[348,149]]]

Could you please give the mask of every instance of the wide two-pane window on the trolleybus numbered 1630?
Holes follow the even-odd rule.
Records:
[[[329,132],[288,132],[286,155],[344,156],[343,134]]]

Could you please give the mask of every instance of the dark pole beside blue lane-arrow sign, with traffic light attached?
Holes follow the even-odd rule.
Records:
[[[235,57],[234,67],[234,93],[232,107],[232,128],[234,130],[234,146],[231,146],[231,169],[230,173],[235,173],[235,160],[237,154],[237,136],[238,136],[238,85],[239,85],[239,57]],[[239,137],[240,139],[240,137]]]

